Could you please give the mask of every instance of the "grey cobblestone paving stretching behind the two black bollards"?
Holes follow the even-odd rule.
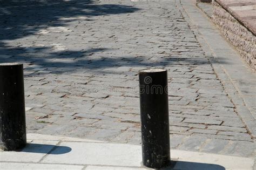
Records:
[[[1,1],[0,62],[24,63],[28,133],[140,144],[138,71],[169,71],[171,147],[255,143],[176,2]]]

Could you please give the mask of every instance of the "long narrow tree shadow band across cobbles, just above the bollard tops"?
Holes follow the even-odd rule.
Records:
[[[29,66],[26,66],[24,71],[33,72],[32,76],[35,76],[36,74],[42,75],[44,74],[44,71],[45,73],[52,74],[69,74],[83,69],[84,71],[91,70],[95,73],[115,73],[113,70],[120,66],[146,68],[166,67],[170,65],[200,66],[211,64],[207,58],[186,58],[186,56],[183,55],[177,57],[159,57],[158,60],[150,60],[143,56],[136,57],[129,53],[124,53],[123,56],[113,55],[104,57],[105,53],[111,52],[112,50],[113,49],[97,47],[79,51],[64,50],[53,52],[50,47],[29,47],[25,49],[12,48],[7,49],[8,53],[2,53],[3,56],[6,54],[11,57],[1,58],[0,55],[0,62],[20,62],[27,64]],[[109,70],[109,72],[107,70]]]

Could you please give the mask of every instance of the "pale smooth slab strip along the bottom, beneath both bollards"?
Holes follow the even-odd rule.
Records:
[[[147,169],[142,167],[141,146],[87,139],[28,134],[20,152],[0,152],[1,169]],[[250,158],[171,150],[164,169],[253,169]]]

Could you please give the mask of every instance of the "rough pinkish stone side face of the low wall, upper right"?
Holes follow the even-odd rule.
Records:
[[[256,65],[256,38],[242,23],[234,18],[220,4],[213,1],[212,20],[217,24],[232,45],[236,47],[241,57],[255,71]]]

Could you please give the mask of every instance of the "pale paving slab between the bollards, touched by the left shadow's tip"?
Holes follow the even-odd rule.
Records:
[[[62,142],[60,146],[70,147],[72,151],[58,155],[62,148],[56,148],[42,162],[139,167],[142,161],[141,147],[137,145]]]

